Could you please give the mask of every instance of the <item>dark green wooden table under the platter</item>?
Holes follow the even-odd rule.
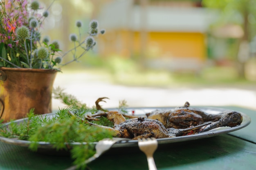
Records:
[[[158,170],[256,170],[256,111],[222,107],[247,114],[247,127],[206,139],[159,145]],[[70,157],[49,156],[0,142],[0,170],[63,170]],[[137,148],[114,148],[88,164],[90,170],[147,170],[146,156]]]

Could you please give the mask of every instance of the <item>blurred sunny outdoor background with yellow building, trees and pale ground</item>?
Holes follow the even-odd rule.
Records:
[[[48,7],[52,0],[40,0]],[[106,33],[54,87],[89,107],[235,105],[256,109],[256,0],[56,0],[43,35],[67,51],[90,20]],[[72,57],[72,56],[70,56]],[[67,59],[68,60],[68,59]],[[53,109],[64,105],[53,100]]]

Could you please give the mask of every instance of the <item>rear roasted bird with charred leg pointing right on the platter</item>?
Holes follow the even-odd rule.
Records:
[[[176,129],[189,128],[191,126],[201,125],[205,122],[217,122],[220,120],[222,123],[215,124],[225,124],[233,127],[240,125],[243,121],[242,115],[238,112],[229,111],[229,114],[225,112],[219,114],[207,114],[200,109],[189,107],[189,102],[186,102],[183,107],[177,107],[175,109],[162,112],[157,110],[147,113],[146,116],[148,119],[157,119],[161,121],[166,128]]]

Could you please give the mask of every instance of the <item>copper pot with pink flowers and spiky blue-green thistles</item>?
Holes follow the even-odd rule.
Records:
[[[40,29],[49,12],[40,14],[38,1],[2,0],[0,4],[0,119],[23,118],[32,108],[36,114],[50,113],[56,73],[92,49],[96,45],[93,36],[105,30],[98,31],[97,20],[92,20],[89,35],[82,39],[82,22],[77,21],[79,38],[70,34],[74,48],[63,52],[58,41],[41,38]],[[73,55],[72,60],[62,63],[68,54]]]

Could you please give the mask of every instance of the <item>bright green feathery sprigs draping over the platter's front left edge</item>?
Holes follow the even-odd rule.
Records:
[[[67,114],[69,110],[59,110],[52,118],[36,116],[34,110],[31,110],[23,123],[11,121],[8,129],[0,127],[0,136],[29,140],[29,148],[34,151],[37,150],[39,141],[52,143],[56,150],[70,150],[74,164],[82,165],[95,153],[93,142],[112,138],[114,134],[109,130],[81,122],[79,117]],[[82,116],[81,112],[79,114]],[[83,144],[72,145],[72,142]]]

